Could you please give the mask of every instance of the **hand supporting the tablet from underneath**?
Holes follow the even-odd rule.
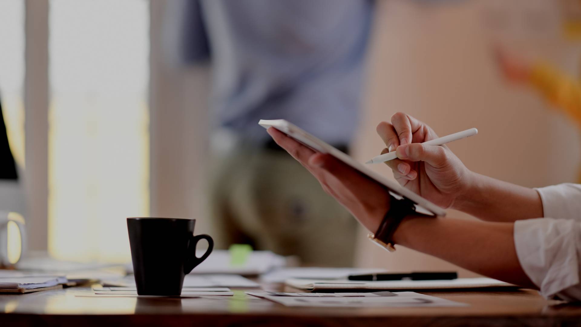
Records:
[[[268,134],[315,176],[323,189],[347,208],[365,228],[376,232],[389,209],[388,191],[349,165],[321,154],[270,127]]]

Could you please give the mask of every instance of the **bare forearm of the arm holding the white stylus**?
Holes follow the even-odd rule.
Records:
[[[467,184],[467,190],[454,202],[454,209],[496,222],[543,217],[543,204],[533,189],[477,173],[471,173]]]

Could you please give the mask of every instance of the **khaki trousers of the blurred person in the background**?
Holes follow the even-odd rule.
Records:
[[[237,147],[212,156],[209,178],[216,248],[246,243],[305,265],[353,264],[357,222],[288,153]]]

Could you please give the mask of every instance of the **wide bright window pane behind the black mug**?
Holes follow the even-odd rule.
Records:
[[[149,2],[51,0],[48,246],[130,260],[125,218],[149,213]]]

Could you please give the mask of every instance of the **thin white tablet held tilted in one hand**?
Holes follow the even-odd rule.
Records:
[[[282,131],[282,133],[287,134],[288,136],[294,138],[300,143],[303,143],[304,145],[307,145],[307,147],[310,147],[315,151],[324,154],[330,154],[340,161],[345,162],[347,165],[352,166],[354,169],[357,169],[359,172],[363,173],[363,175],[371,177],[377,182],[383,184],[388,188],[389,193],[392,194],[392,196],[396,198],[407,198],[408,200],[414,202],[416,204],[416,210],[422,214],[433,214],[437,216],[446,215],[446,211],[444,209],[438,207],[425,198],[422,198],[418,194],[415,194],[413,191],[406,189],[394,180],[390,180],[387,177],[374,172],[373,170],[367,168],[363,163],[357,162],[355,159],[349,157],[349,155],[345,154],[344,152],[337,150],[331,145],[319,140],[317,137],[314,137],[313,135],[300,129],[292,123],[287,122],[284,119],[261,119],[259,125],[266,129],[268,129],[268,127],[274,127],[275,129]]]

